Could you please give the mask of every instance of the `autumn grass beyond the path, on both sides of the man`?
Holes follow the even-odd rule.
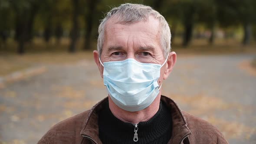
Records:
[[[69,39],[62,39],[59,45],[54,43],[55,39],[46,44],[43,39],[34,39],[32,43],[25,46],[26,53],[22,56],[16,54],[17,43],[8,39],[5,47],[0,48],[0,76],[8,75],[30,66],[40,64],[64,64],[77,62],[82,59],[93,59],[92,49],[83,51],[82,40],[77,44],[77,52],[68,53]],[[92,43],[96,49],[96,43]],[[232,39],[218,39],[214,45],[209,45],[206,39],[194,39],[186,48],[181,46],[181,39],[175,38],[172,44],[172,50],[177,52],[178,56],[188,55],[220,55],[220,54],[238,54],[254,53],[256,54],[256,44],[242,46],[240,42]],[[253,61],[256,66],[256,59]]]

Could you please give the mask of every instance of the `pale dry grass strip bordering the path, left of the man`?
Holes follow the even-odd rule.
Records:
[[[7,54],[0,56],[0,76],[10,74],[30,66],[42,64],[63,64],[77,62],[82,59],[92,59],[92,52],[77,52],[69,54],[68,52],[56,53],[29,53],[24,56],[16,54]]]

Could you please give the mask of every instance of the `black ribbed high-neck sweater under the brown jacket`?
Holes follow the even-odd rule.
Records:
[[[138,141],[133,140],[135,126],[116,118],[106,103],[98,117],[99,137],[103,144],[167,144],[171,139],[171,113],[163,102],[148,121],[138,123]]]

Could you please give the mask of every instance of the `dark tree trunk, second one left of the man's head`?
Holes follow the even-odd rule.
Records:
[[[71,44],[69,46],[69,52],[75,52],[76,50],[76,41],[79,35],[79,26],[78,26],[78,15],[79,15],[79,3],[78,0],[72,0],[73,2],[73,27],[71,31]]]

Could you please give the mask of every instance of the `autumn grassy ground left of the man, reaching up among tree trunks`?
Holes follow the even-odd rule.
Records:
[[[77,52],[68,53],[68,39],[62,39],[59,45],[54,44],[53,41],[54,39],[51,39],[46,44],[42,39],[34,39],[33,43],[25,45],[26,53],[18,55],[16,54],[17,43],[13,39],[8,39],[6,46],[0,47],[0,76],[35,65],[72,63],[82,59],[93,59],[92,50],[83,51],[82,43],[78,43],[80,49]],[[93,46],[95,46],[94,43]]]

